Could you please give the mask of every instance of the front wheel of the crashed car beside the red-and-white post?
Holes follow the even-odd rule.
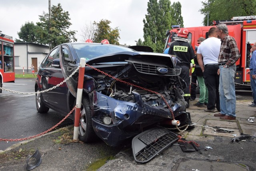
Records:
[[[97,139],[96,137],[92,127],[92,110],[90,109],[90,102],[88,98],[82,97],[78,138],[84,143],[91,143]]]

